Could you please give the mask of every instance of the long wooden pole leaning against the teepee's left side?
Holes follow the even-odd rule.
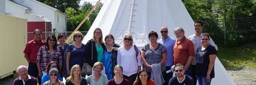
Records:
[[[85,20],[90,16],[90,14],[93,12],[93,10],[97,7],[97,5],[100,3],[101,0],[99,0],[93,9],[89,12],[89,14],[86,15],[85,19],[76,27],[76,29],[72,32],[72,34],[66,39],[66,42],[73,36],[73,34],[80,28],[80,26],[85,22]]]

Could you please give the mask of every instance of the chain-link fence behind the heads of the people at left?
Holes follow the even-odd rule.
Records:
[[[80,32],[83,34],[83,36],[85,36],[87,34],[87,31],[80,31]],[[46,38],[50,35],[55,35],[57,38],[59,33],[65,33],[67,35],[67,37],[69,37],[72,34],[72,32],[43,32],[42,40],[46,40]],[[33,32],[28,32],[27,34],[28,34],[27,42],[34,39]],[[68,43],[74,43],[72,37],[68,40]]]

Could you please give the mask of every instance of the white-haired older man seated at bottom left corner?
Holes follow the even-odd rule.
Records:
[[[37,79],[28,75],[28,68],[20,65],[17,68],[18,77],[14,80],[13,85],[37,85]]]

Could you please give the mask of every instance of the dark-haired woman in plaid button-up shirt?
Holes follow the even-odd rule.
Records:
[[[39,77],[42,78],[43,74],[46,73],[46,67],[51,61],[56,61],[60,65],[59,68],[62,68],[62,57],[54,35],[47,37],[45,46],[39,48],[36,61]]]

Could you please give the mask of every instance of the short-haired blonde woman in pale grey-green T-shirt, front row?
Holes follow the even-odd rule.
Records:
[[[101,70],[104,68],[103,64],[101,62],[96,62],[93,65],[93,70],[95,71],[95,74],[90,75],[86,78],[87,84],[90,85],[107,85],[107,75],[101,74]]]

